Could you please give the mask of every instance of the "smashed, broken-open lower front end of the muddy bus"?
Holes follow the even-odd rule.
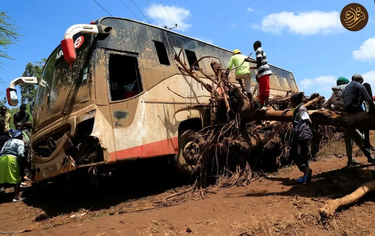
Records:
[[[95,127],[97,116],[100,115],[94,110],[78,117],[77,120],[81,122],[76,124],[72,134],[70,126],[66,125],[35,140],[32,143],[33,158],[30,160],[31,179],[39,182],[77,168],[107,163],[107,148],[101,142],[101,136],[96,136],[98,133],[105,135],[103,127]]]

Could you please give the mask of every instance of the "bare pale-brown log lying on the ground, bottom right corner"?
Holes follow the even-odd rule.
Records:
[[[361,197],[365,196],[366,193],[375,191],[375,180],[362,184],[353,193],[334,200],[329,200],[322,208],[319,209],[322,217],[333,217],[335,212],[344,207],[357,202]]]

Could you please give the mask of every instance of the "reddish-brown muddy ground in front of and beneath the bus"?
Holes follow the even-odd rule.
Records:
[[[375,144],[375,133],[371,134]],[[354,155],[358,150],[354,149]],[[324,201],[342,197],[375,178],[375,166],[345,167],[344,143],[333,143],[311,163],[311,185],[297,185],[296,166],[261,173],[246,187],[232,187],[196,197],[171,199],[168,207],[146,211],[163,196],[180,191],[188,179],[178,179],[165,160],[133,164],[114,175],[98,191],[78,185],[64,193],[51,187],[24,188],[25,202],[7,203],[0,194],[0,232],[30,230],[22,235],[375,235],[375,194],[321,221]],[[132,165],[132,164],[129,164]],[[142,168],[140,168],[142,166]],[[163,167],[158,167],[163,166]],[[138,169],[137,169],[138,168]],[[135,171],[137,170],[137,171]],[[8,189],[7,191],[11,191]],[[137,211],[137,212],[130,212]],[[81,216],[77,216],[81,214]],[[74,215],[74,216],[73,216]]]

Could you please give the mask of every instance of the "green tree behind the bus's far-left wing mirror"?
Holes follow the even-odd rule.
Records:
[[[25,71],[22,73],[22,77],[36,77],[40,78],[42,75],[42,64],[47,61],[46,58],[42,58],[42,61],[34,61],[34,64],[29,62],[26,64]],[[36,94],[36,85],[33,84],[20,84],[21,103],[30,103],[34,100]]]

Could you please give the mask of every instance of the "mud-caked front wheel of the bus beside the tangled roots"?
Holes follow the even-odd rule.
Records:
[[[174,155],[174,158],[172,158],[173,159],[172,161],[174,163],[175,169],[183,175],[191,175],[193,170],[195,169],[195,163],[193,164],[193,162],[195,161],[194,160],[188,161],[189,159],[187,159],[188,158],[187,155],[189,154],[186,154],[186,153],[191,150],[191,149],[188,150],[187,147],[189,148],[194,147],[194,146],[191,146],[190,141],[192,141],[193,139],[197,137],[198,137],[199,142],[203,140],[201,135],[198,134],[198,132],[195,130],[189,129],[189,130],[182,130],[179,132],[178,153]]]

